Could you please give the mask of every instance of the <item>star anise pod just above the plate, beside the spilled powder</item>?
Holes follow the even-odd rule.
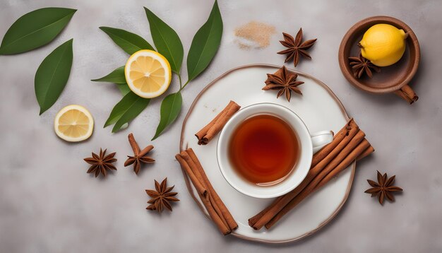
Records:
[[[282,33],[282,35],[284,36],[284,40],[280,40],[280,43],[288,48],[277,52],[277,54],[287,54],[284,62],[293,59],[294,66],[297,66],[299,62],[299,54],[304,58],[311,59],[310,54],[306,50],[313,46],[317,39],[302,42],[302,28],[299,29],[296,38],[293,38],[293,36],[288,33]]]

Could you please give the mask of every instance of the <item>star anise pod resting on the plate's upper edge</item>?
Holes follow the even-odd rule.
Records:
[[[282,66],[282,68],[278,69],[275,73],[267,74],[267,80],[265,80],[263,90],[280,90],[276,98],[279,98],[280,95],[285,93],[285,98],[290,102],[292,91],[302,95],[301,90],[299,90],[297,86],[304,82],[296,81],[297,77],[298,75],[296,73],[289,72],[285,66]]]

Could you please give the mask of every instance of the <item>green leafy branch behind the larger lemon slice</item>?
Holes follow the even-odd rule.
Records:
[[[181,64],[184,59],[184,48],[179,36],[169,25],[167,25],[167,23],[158,18],[152,11],[148,8],[144,9],[150,25],[153,44],[155,45],[157,52],[162,54],[167,61],[169,61],[172,72],[177,74],[179,79],[179,90],[176,93],[167,95],[162,100],[160,122],[155,131],[155,136],[153,136],[154,140],[157,139],[157,137],[160,136],[179,116],[182,105],[181,90],[183,90],[190,81],[199,76],[208,67],[213,57],[215,57],[217,49],[220,47],[221,43],[222,18],[220,8],[218,8],[217,1],[215,1],[208,20],[193,37],[189,54],[187,56],[188,79],[186,83],[183,84],[181,78]],[[133,54],[141,49],[154,50],[147,41],[134,33],[117,28],[101,27],[100,29],[107,33],[107,35],[109,35],[109,37],[111,37],[111,39],[128,54]],[[109,115],[109,119],[107,119],[106,124],[104,124],[104,127],[107,127],[110,124],[115,123],[112,132],[119,131],[122,126],[137,117],[138,114],[148,106],[148,102],[150,101],[145,98],[140,98],[132,93],[125,80],[124,66],[115,69],[107,76],[92,80],[117,83],[121,93],[124,94],[124,98],[115,105]]]

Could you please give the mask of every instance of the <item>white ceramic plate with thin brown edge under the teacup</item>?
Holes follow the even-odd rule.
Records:
[[[198,146],[196,132],[224,109],[229,100],[234,100],[241,107],[258,102],[273,102],[288,107],[303,119],[311,133],[323,130],[337,133],[349,119],[345,108],[330,88],[305,73],[293,71],[298,73],[299,81],[304,81],[304,84],[298,86],[304,95],[292,94],[290,102],[283,96],[276,98],[275,90],[261,90],[265,85],[266,73],[274,73],[277,69],[279,66],[264,64],[241,66],[216,78],[191,105],[183,122],[180,143],[181,151],[193,148],[217,194],[237,221],[238,229],[232,234],[246,240],[269,243],[299,240],[328,223],[347,200],[355,169],[353,163],[351,168],[302,201],[270,230],[263,228],[256,231],[249,227],[248,219],[268,206],[273,199],[254,199],[232,188],[222,177],[217,165],[218,136],[208,145]],[[208,216],[189,179],[186,176],[184,178],[193,199]]]

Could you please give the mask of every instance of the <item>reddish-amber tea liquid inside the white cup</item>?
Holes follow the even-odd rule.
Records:
[[[300,145],[294,129],[272,114],[253,115],[239,123],[229,140],[229,160],[245,180],[273,185],[294,170]]]

